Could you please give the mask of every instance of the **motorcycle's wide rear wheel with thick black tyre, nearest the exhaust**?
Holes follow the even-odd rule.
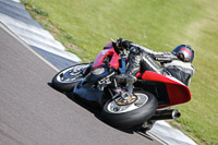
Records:
[[[135,100],[134,100],[135,99]],[[104,120],[116,128],[129,128],[147,121],[157,110],[157,99],[148,92],[133,90],[133,99],[126,105],[119,98],[110,99],[102,108]]]

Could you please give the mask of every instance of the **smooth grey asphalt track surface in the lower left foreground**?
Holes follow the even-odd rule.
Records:
[[[49,86],[57,73],[0,27],[0,144],[157,145],[118,130],[99,111]]]

